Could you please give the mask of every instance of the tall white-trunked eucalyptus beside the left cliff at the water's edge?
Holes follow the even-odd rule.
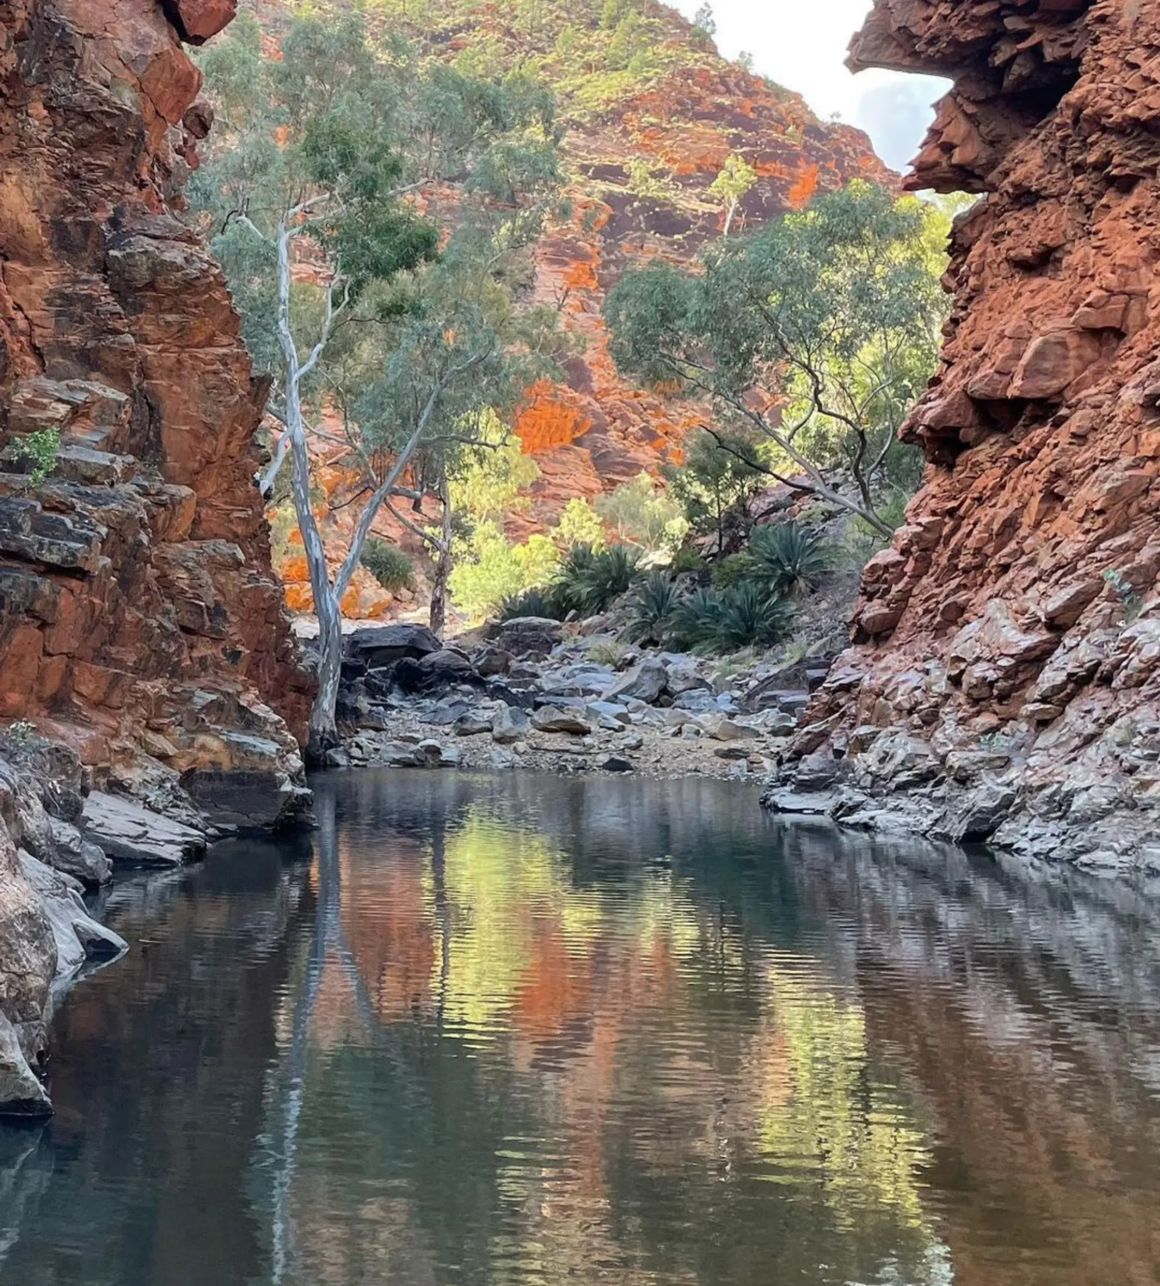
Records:
[[[423,66],[401,42],[377,45],[358,14],[298,19],[276,54],[239,19],[203,71],[219,129],[192,194],[247,346],[273,374],[267,410],[282,432],[258,486],[269,494],[289,458],[319,621],[307,747],[318,755],[337,741],[340,604],[374,518],[390,496],[414,495],[403,482],[421,448],[460,437],[466,406],[502,382],[503,337],[478,302],[453,291],[428,306],[419,283],[439,265],[445,230],[421,204],[455,184],[449,217],[508,202],[508,222],[534,220],[522,188],[556,179],[552,96],[522,73],[495,84]],[[325,403],[343,412],[350,455],[365,467],[333,571],[306,422]]]

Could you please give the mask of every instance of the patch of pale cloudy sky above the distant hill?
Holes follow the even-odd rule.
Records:
[[[702,0],[669,0],[692,18]],[[837,116],[869,134],[875,150],[904,170],[948,86],[934,76],[845,67],[846,46],[871,0],[711,0],[716,42],[727,58],[746,50],[754,69],[797,90],[823,120]]]

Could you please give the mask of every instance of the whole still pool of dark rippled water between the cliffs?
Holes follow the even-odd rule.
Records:
[[[108,895],[5,1286],[1160,1281],[1160,898],[742,783],[318,815]]]

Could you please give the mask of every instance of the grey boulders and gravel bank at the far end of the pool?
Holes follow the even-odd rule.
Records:
[[[745,667],[625,647],[607,626],[523,617],[446,646],[419,625],[356,630],[331,764],[768,774],[827,673],[824,656]]]

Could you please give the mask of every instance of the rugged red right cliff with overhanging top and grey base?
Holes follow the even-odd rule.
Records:
[[[954,78],[929,468],[784,786],[847,820],[1160,863],[1160,4],[877,0],[855,67]]]

